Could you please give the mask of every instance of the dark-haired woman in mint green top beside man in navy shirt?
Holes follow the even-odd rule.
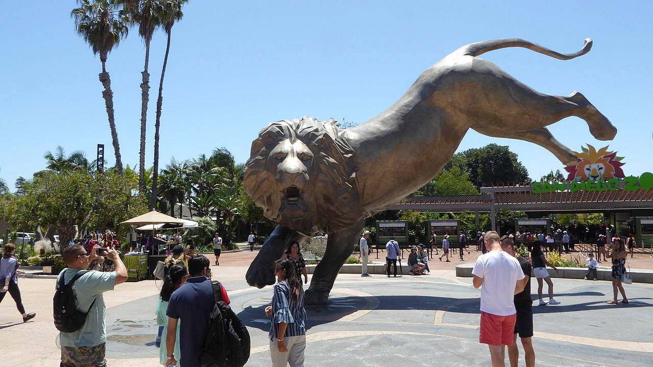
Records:
[[[157,304],[157,325],[159,325],[159,336],[157,336],[157,343],[161,343],[161,335],[167,335],[168,332],[168,316],[166,315],[166,310],[168,310],[168,302],[170,301],[170,296],[172,292],[176,291],[179,287],[182,286],[183,282],[188,278],[188,270],[183,264],[176,264],[170,266],[168,275],[163,279],[163,286],[161,286],[161,293],[159,293],[159,304]],[[174,342],[174,355],[179,359],[181,355],[179,349],[179,325],[177,323],[177,338]],[[171,353],[172,354],[172,353]],[[161,343],[159,347],[159,362],[165,366],[165,362],[168,360],[168,353],[166,350],[165,343]]]

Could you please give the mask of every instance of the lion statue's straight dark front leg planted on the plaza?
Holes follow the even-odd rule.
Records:
[[[315,267],[311,278],[311,285],[306,289],[304,303],[326,304],[338,272],[351,255],[356,240],[363,229],[363,222],[355,225],[330,231],[328,234],[327,251]]]

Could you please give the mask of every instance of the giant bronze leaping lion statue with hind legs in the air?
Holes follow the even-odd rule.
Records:
[[[307,304],[324,304],[351,254],[363,219],[422,187],[449,161],[468,129],[533,142],[564,165],[576,155],[547,125],[569,116],[585,120],[598,140],[616,128],[581,93],[545,95],[477,56],[523,47],[567,60],[589,52],[560,54],[522,39],[468,44],[417,78],[399,101],[351,129],[333,120],[304,117],[270,123],[251,146],[245,190],[278,226],[247,270],[247,283],[274,283],[274,261],[292,240],[328,233],[327,249],[306,291]]]

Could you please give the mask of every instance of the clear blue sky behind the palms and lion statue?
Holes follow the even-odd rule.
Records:
[[[625,4],[625,5],[624,5]],[[0,22],[0,177],[12,187],[44,168],[44,152],[105,144],[114,163],[99,57],[74,32],[75,1],[10,1]],[[172,30],[163,89],[161,167],[225,146],[243,163],[266,124],[285,118],[362,123],[394,103],[424,69],[460,46],[520,37],[571,61],[511,48],[483,55],[528,86],[554,95],[579,90],[619,132],[611,150],[626,174],[650,167],[650,3],[596,1],[214,1],[193,0]],[[155,103],[165,34],[150,56],[147,165],[153,159]],[[140,72],[136,29],[108,58],[123,163],[138,163]],[[584,121],[549,129],[572,150],[594,140]],[[562,164],[544,148],[470,131],[458,151],[509,145],[532,178]],[[424,147],[432,148],[432,147]]]

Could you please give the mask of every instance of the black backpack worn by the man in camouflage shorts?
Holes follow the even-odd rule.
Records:
[[[57,290],[54,293],[52,302],[54,305],[54,326],[62,332],[75,332],[86,323],[88,311],[82,312],[77,310],[75,306],[76,297],[72,290],[72,285],[77,279],[88,273],[88,270],[82,270],[75,274],[68,284],[65,284],[65,272],[64,270],[59,278]],[[91,310],[94,303],[95,300],[91,303],[91,307],[88,308],[89,310]]]

